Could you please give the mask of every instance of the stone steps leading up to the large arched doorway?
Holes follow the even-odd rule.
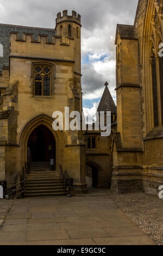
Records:
[[[30,171],[26,180],[24,197],[65,196],[61,179],[53,171]]]

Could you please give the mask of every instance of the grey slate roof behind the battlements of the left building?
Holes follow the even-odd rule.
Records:
[[[52,28],[35,28],[17,25],[0,24],[0,44],[3,45],[3,57],[0,57],[0,72],[3,66],[9,66],[10,33],[17,32],[18,39],[23,39],[23,33],[33,34],[33,39],[38,40],[39,34],[47,35],[48,42],[52,42],[55,30]]]

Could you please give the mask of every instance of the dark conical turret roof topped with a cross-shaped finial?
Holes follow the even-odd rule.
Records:
[[[112,96],[111,96],[110,92],[109,92],[108,85],[109,85],[109,83],[106,82],[105,83],[105,90],[104,90],[103,96],[101,98],[101,101],[99,102],[97,112],[111,111],[111,113],[116,114],[116,112],[117,112],[116,111],[116,105],[115,105],[114,100],[112,99]]]

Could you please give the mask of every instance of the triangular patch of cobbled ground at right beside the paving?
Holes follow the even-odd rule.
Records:
[[[145,193],[109,196],[158,245],[163,245],[163,199]]]

